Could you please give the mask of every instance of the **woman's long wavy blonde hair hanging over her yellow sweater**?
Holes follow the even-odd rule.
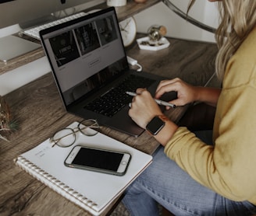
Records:
[[[190,0],[187,12],[195,1]],[[256,27],[256,1],[222,0],[218,2],[218,8],[220,22],[215,32],[215,40],[219,52],[216,56],[215,69],[218,78],[222,80],[230,57]]]

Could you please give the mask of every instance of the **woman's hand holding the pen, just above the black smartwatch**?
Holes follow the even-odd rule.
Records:
[[[146,89],[137,89],[136,93],[137,96],[133,97],[129,115],[137,125],[145,129],[153,117],[162,115],[162,111]]]

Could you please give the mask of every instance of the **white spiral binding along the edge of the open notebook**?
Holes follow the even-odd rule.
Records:
[[[19,165],[21,169],[28,172],[30,175],[34,176],[36,179],[38,179],[42,183],[51,187],[52,190],[55,190],[55,192],[73,201],[75,204],[79,205],[80,207],[84,207],[84,208],[89,207],[94,209],[94,207],[98,206],[98,204],[94,203],[94,201],[89,200],[87,197],[84,197],[84,195],[78,193],[76,190],[73,190],[72,188],[67,186],[65,183],[62,183],[61,181],[59,181],[59,179],[56,179],[54,176],[40,169],[37,165],[34,165],[32,162],[23,158],[22,156],[18,156],[18,158],[15,159],[14,162],[17,165]],[[38,175],[36,175],[35,173],[37,173]],[[97,211],[96,209],[94,210]]]

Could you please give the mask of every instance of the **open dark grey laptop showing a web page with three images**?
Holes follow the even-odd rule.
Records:
[[[114,7],[41,30],[40,37],[67,112],[134,137],[144,131],[128,115],[132,97],[125,92],[142,87],[154,95],[164,78],[129,68]]]

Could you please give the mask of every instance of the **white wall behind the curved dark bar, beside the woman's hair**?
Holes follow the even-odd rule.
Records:
[[[189,0],[169,0],[174,3],[183,12],[187,12]],[[215,3],[207,0],[197,0],[189,12],[189,16],[201,21],[209,26],[218,26],[218,12]],[[189,40],[202,40],[215,42],[214,34],[201,30],[197,26],[188,23],[185,19],[180,18],[172,12],[164,3],[140,12],[134,16],[137,23],[137,31],[147,33],[148,28],[153,24],[165,26],[168,37],[177,37]]]

